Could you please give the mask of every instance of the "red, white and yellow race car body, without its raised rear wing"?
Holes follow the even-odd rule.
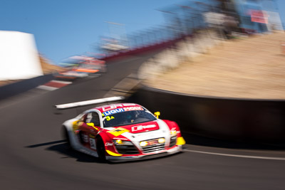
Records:
[[[63,122],[63,127],[73,149],[103,161],[147,159],[182,151],[185,140],[177,123],[160,120],[158,115],[160,112],[152,115],[135,103],[117,103],[86,110]]]

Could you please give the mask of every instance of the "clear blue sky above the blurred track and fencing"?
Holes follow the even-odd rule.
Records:
[[[124,23],[126,33],[162,25],[160,11],[181,0],[1,0],[0,30],[33,33],[38,51],[53,63],[95,51],[108,23]],[[282,21],[285,1],[277,0]]]

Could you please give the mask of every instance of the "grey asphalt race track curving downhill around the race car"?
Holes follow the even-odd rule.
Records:
[[[52,105],[100,98],[152,53],[109,64],[108,73],[13,102],[0,101],[1,189],[285,189],[283,148],[185,136],[185,152],[119,164],[68,149],[61,123],[81,110]],[[84,108],[84,110],[87,108]]]

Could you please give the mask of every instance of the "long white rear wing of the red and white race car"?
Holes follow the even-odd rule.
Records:
[[[124,99],[125,97],[123,96],[104,97],[104,98],[95,99],[95,100],[86,100],[82,102],[71,102],[67,104],[55,105],[54,107],[56,107],[57,110],[66,110],[66,109],[81,107],[85,105],[97,105],[97,104],[108,103],[108,102],[117,102],[117,101],[124,100]]]

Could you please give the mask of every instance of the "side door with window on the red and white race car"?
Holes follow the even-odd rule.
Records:
[[[88,112],[79,127],[81,142],[89,149],[96,149],[95,137],[100,130],[100,119],[97,112]]]

